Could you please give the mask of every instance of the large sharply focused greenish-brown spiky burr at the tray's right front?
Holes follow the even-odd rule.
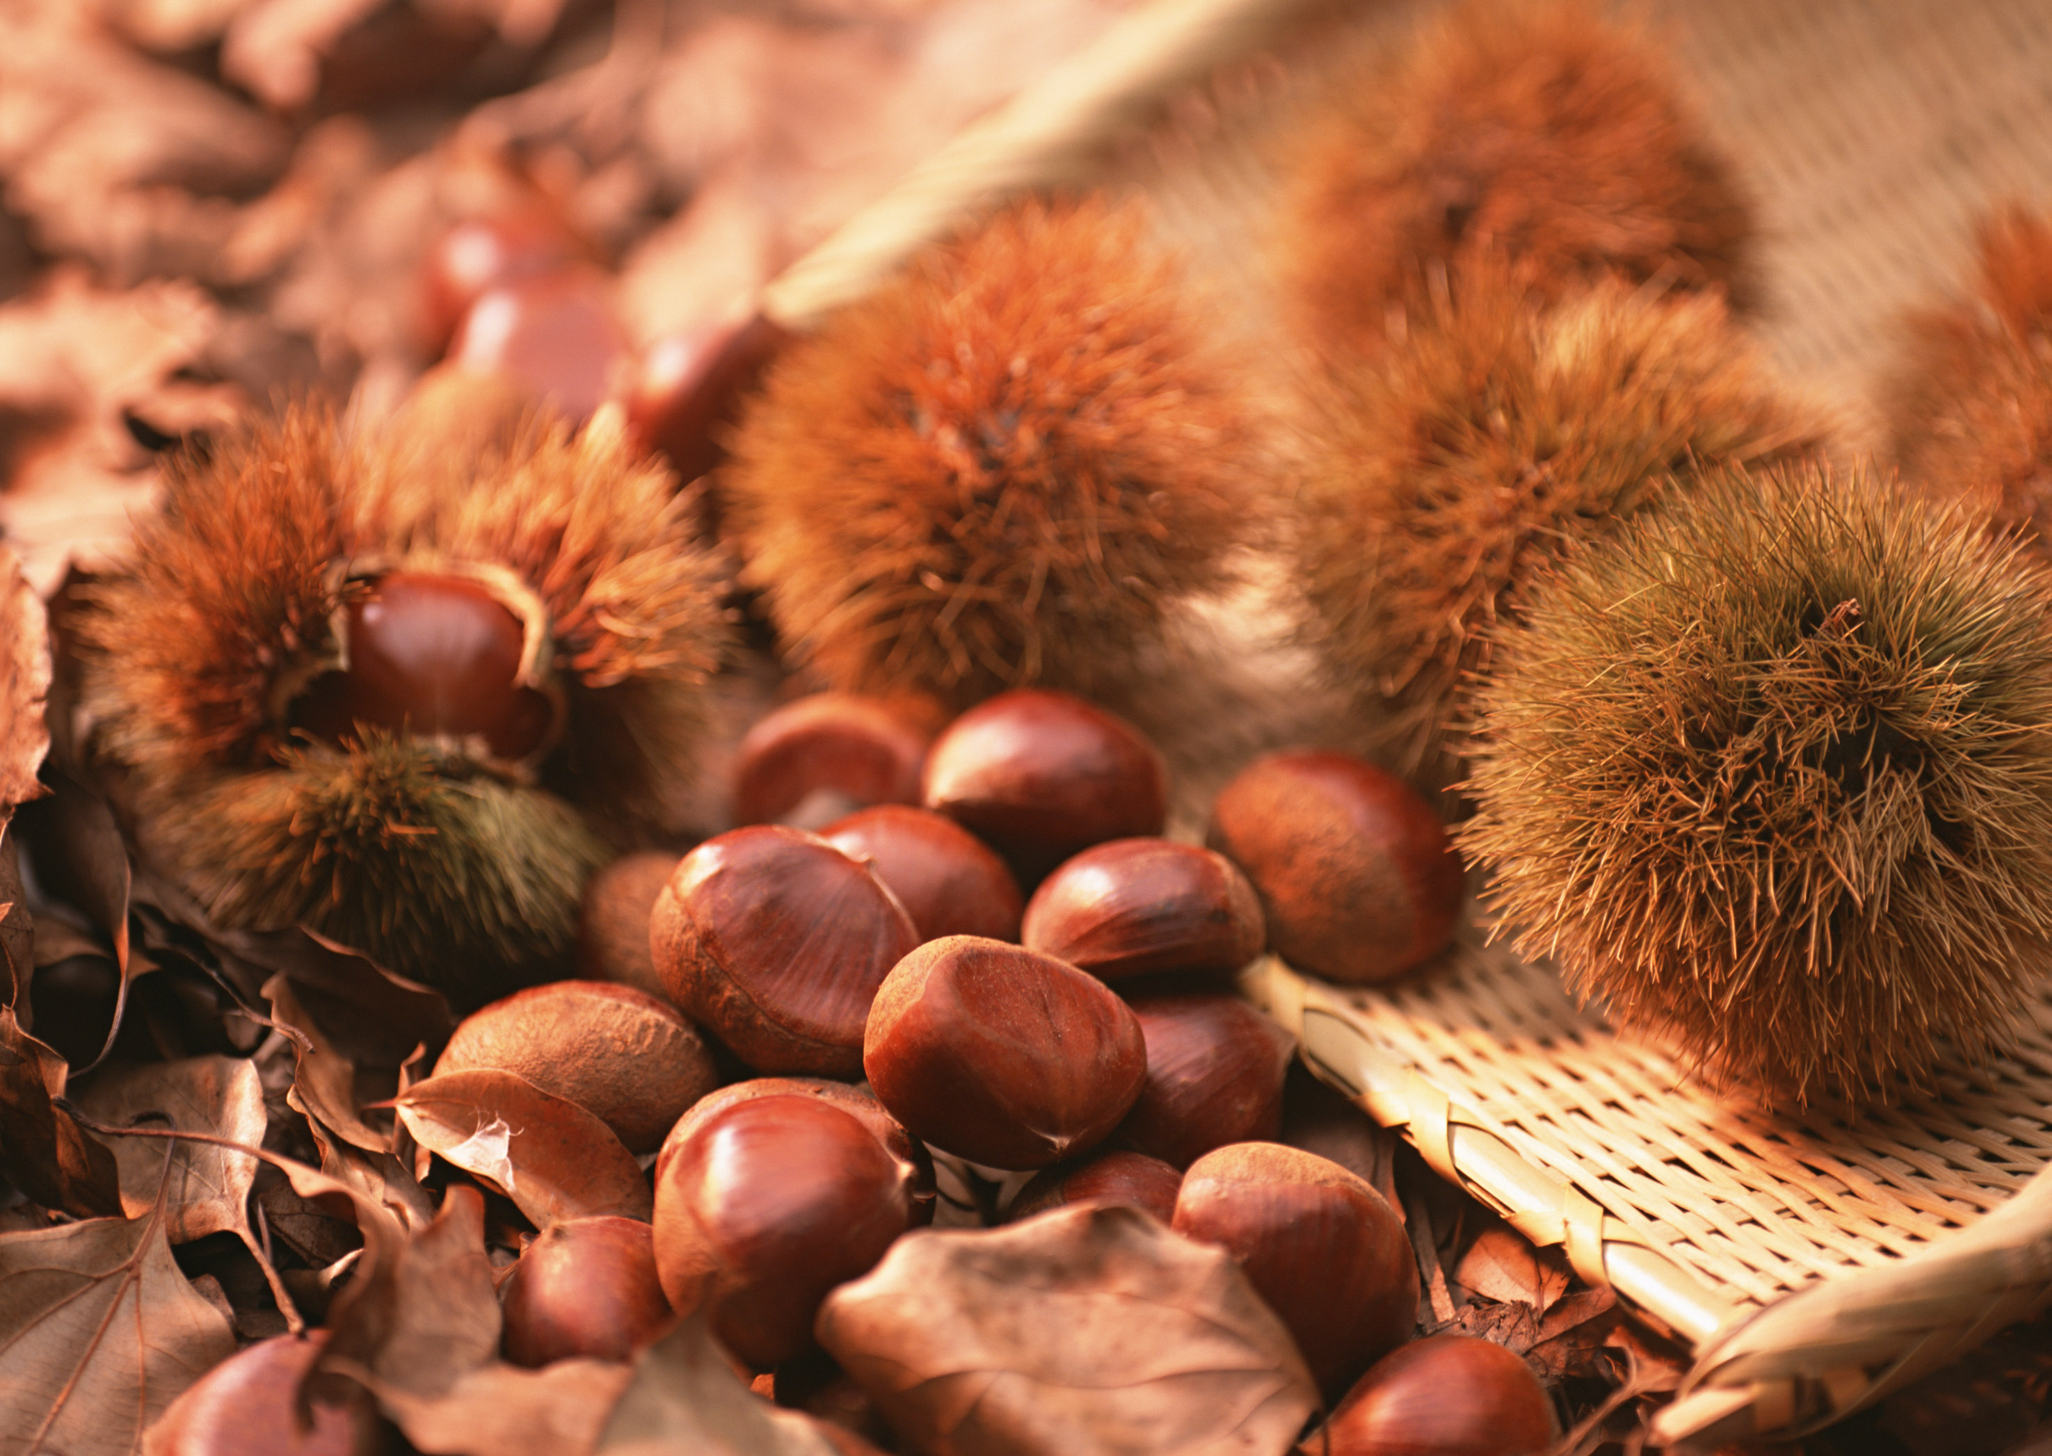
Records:
[[[1521,952],[1709,1081],[1927,1083],[2052,970],[2048,617],[1972,513],[1718,476],[1504,630],[1461,845]]]

